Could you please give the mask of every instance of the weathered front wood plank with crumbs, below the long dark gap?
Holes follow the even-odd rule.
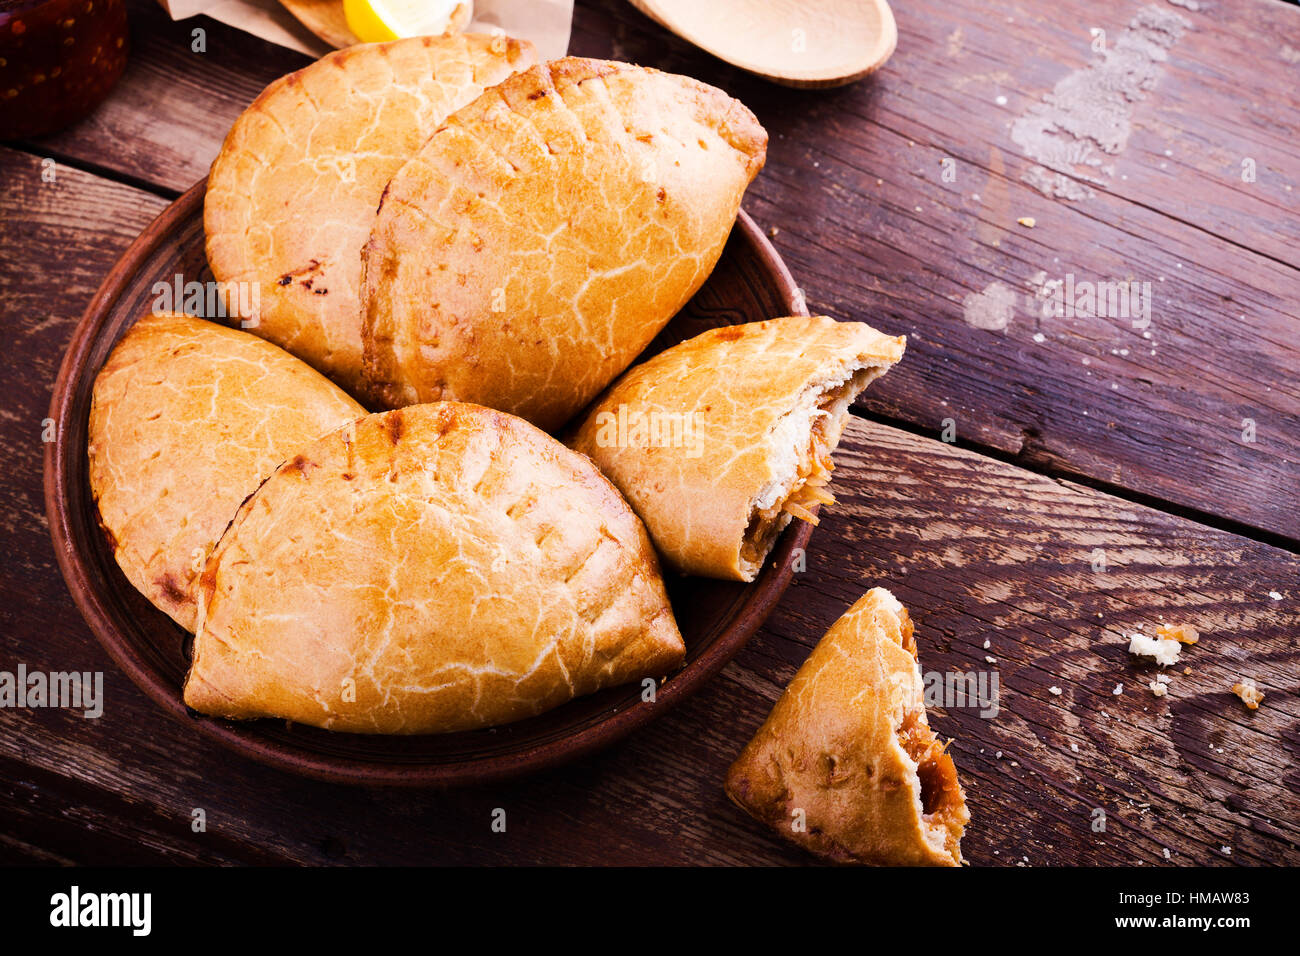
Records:
[[[1000,675],[997,719],[966,709],[935,718],[956,736],[970,788],[972,861],[1011,862],[1014,848],[1035,864],[1160,864],[1165,847],[1175,862],[1300,858],[1300,562],[864,421],[841,454],[842,505],[768,626],[705,692],[624,745],[454,793],[324,786],[212,749],[166,721],[90,636],[58,579],[40,501],[40,419],[73,317],[161,203],[75,170],[42,183],[36,159],[21,153],[0,163],[0,303],[14,333],[0,531],[16,555],[0,578],[0,669],[104,671],[107,698],[99,719],[0,710],[5,858],[806,862],[737,813],[720,780],[807,649],[872,584],[911,609],[927,670]],[[31,263],[62,281],[34,285]],[[1102,574],[1092,571],[1098,548]],[[1115,631],[1149,630],[1160,615],[1204,637],[1188,652],[1193,672],[1157,700]],[[1227,693],[1240,675],[1269,693],[1253,714]],[[1117,683],[1124,693],[1113,697]],[[498,806],[507,834],[490,830]],[[1091,830],[1097,806],[1109,819],[1101,835]],[[195,809],[205,832],[191,830]]]

